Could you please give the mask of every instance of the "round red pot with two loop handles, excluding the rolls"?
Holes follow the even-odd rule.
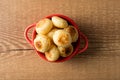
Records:
[[[74,51],[73,51],[73,53],[72,53],[70,56],[68,56],[68,57],[64,57],[64,58],[63,58],[63,57],[60,57],[57,61],[54,61],[54,62],[64,62],[64,61],[67,61],[67,60],[71,59],[71,58],[72,58],[73,56],[75,56],[76,54],[80,54],[80,53],[84,52],[84,51],[87,49],[87,47],[88,47],[88,39],[87,39],[87,37],[79,30],[77,24],[76,24],[72,19],[70,19],[69,17],[64,16],[64,15],[61,15],[61,14],[52,14],[52,15],[46,16],[45,18],[50,18],[50,19],[51,19],[52,16],[58,16],[58,17],[61,17],[61,18],[65,19],[65,20],[67,20],[68,23],[69,23],[70,25],[73,25],[73,26],[77,29],[78,33],[79,33],[79,37],[78,37],[77,42],[73,43],[73,45],[74,45]],[[25,32],[24,32],[25,39],[34,47],[34,49],[35,49],[35,46],[34,46],[34,43],[33,43],[33,42],[34,42],[34,39],[35,39],[36,34],[37,34],[36,31],[35,31],[35,26],[36,26],[36,23],[28,26],[28,27],[25,29]],[[32,39],[30,39],[30,38],[28,37],[28,31],[29,31],[30,29],[32,29],[32,28],[33,28]],[[81,41],[81,39],[83,39],[83,40],[85,41],[85,45],[84,45],[84,47],[83,47],[82,49],[80,49],[80,41]],[[38,53],[38,55],[39,55],[42,59],[48,61],[43,53],[37,51],[36,49],[35,49],[35,51]]]

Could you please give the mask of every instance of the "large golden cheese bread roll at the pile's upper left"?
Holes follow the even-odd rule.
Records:
[[[38,34],[47,34],[53,27],[53,23],[50,19],[45,18],[40,20],[36,24],[36,32]]]

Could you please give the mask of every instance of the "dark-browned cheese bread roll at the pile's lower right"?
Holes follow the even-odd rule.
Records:
[[[71,55],[71,53],[73,52],[73,46],[70,45],[68,47],[58,47],[59,51],[60,51],[60,56],[62,57],[67,57],[69,55]]]

